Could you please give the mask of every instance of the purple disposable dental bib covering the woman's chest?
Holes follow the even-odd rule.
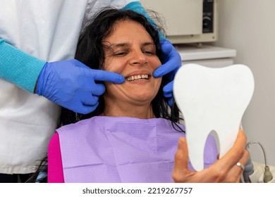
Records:
[[[65,182],[81,183],[173,182],[178,138],[185,136],[163,118],[106,116],[66,125],[57,132]],[[204,167],[216,161],[213,137],[207,139],[206,150]]]

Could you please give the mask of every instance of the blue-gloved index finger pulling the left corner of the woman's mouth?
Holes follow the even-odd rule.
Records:
[[[93,70],[92,75],[95,81],[106,81],[116,84],[122,84],[124,82],[124,77],[116,72],[109,72],[106,70]]]

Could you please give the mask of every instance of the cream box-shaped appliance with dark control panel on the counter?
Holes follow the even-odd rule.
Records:
[[[147,10],[164,18],[173,44],[215,42],[218,37],[218,0],[140,0]]]

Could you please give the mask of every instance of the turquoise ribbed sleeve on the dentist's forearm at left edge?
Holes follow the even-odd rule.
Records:
[[[33,93],[45,61],[16,49],[0,39],[0,79]]]

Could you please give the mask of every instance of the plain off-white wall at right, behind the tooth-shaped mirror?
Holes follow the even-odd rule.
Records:
[[[275,165],[275,1],[219,0],[217,46],[237,50],[234,63],[250,67],[255,92],[243,117],[247,141],[259,141]],[[258,145],[250,146],[252,160],[264,163]]]

